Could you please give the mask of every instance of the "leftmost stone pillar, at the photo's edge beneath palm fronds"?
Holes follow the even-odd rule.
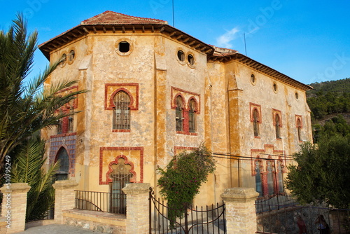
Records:
[[[5,218],[7,233],[18,233],[25,230],[27,211],[27,193],[31,186],[27,183],[4,185],[1,216]]]

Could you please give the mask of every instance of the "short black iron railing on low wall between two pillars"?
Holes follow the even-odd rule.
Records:
[[[126,195],[124,193],[105,193],[95,191],[75,191],[77,209],[126,214]]]

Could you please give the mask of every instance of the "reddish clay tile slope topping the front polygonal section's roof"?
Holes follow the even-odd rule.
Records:
[[[81,25],[143,25],[143,24],[167,25],[167,21],[124,15],[113,11],[105,11],[104,13],[95,15],[94,17],[81,22]]]

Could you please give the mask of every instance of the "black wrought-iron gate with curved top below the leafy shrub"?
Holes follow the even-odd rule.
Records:
[[[225,203],[206,207],[188,207],[187,214],[182,219],[176,219],[170,227],[167,204],[160,198],[155,198],[150,188],[149,197],[149,233],[150,234],[226,234]]]

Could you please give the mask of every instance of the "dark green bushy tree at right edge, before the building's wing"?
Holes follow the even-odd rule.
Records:
[[[318,145],[306,142],[293,158],[297,165],[288,167],[286,187],[298,202],[350,209],[350,137],[323,137]]]

